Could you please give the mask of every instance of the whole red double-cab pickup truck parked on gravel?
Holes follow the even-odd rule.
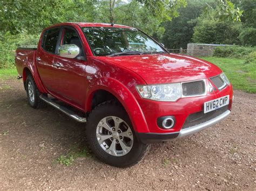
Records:
[[[130,26],[61,23],[16,51],[31,107],[86,122],[90,148],[127,167],[149,144],[183,138],[230,114],[233,88],[219,67],[173,54]],[[61,119],[60,119],[61,120]]]

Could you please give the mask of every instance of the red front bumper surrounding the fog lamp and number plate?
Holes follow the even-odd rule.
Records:
[[[230,104],[225,106],[225,109],[231,110],[233,97],[232,86],[226,86],[221,91],[215,91],[212,93],[208,92],[207,95],[180,98],[174,102],[154,101],[149,99],[138,98],[138,103],[142,109],[142,112],[147,123],[147,131],[145,131],[145,129],[140,131],[140,128],[137,127],[137,132],[163,134],[177,133],[180,132],[181,129],[183,128],[199,125],[202,122],[218,117],[218,115],[222,113],[222,111],[221,113],[217,112],[216,114],[218,115],[215,116],[209,115],[211,112],[204,114],[204,103],[210,100],[224,97],[226,95],[230,95]],[[226,110],[223,112],[226,112]],[[165,129],[159,126],[157,122],[158,119],[166,116],[173,116],[176,119],[176,123],[172,128]],[[203,120],[194,120],[199,117]]]

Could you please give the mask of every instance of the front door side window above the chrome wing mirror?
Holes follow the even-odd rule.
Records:
[[[78,33],[70,28],[65,28],[64,38],[62,44],[75,44],[79,47],[80,53],[77,57],[84,56],[84,50]]]

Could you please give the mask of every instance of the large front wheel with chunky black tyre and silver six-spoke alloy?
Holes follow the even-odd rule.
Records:
[[[150,146],[137,140],[129,116],[116,101],[96,106],[88,118],[86,135],[97,158],[116,167],[140,162]]]

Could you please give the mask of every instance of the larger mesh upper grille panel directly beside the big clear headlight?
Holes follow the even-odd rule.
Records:
[[[184,96],[202,95],[205,93],[205,81],[190,81],[182,83],[182,94]]]

